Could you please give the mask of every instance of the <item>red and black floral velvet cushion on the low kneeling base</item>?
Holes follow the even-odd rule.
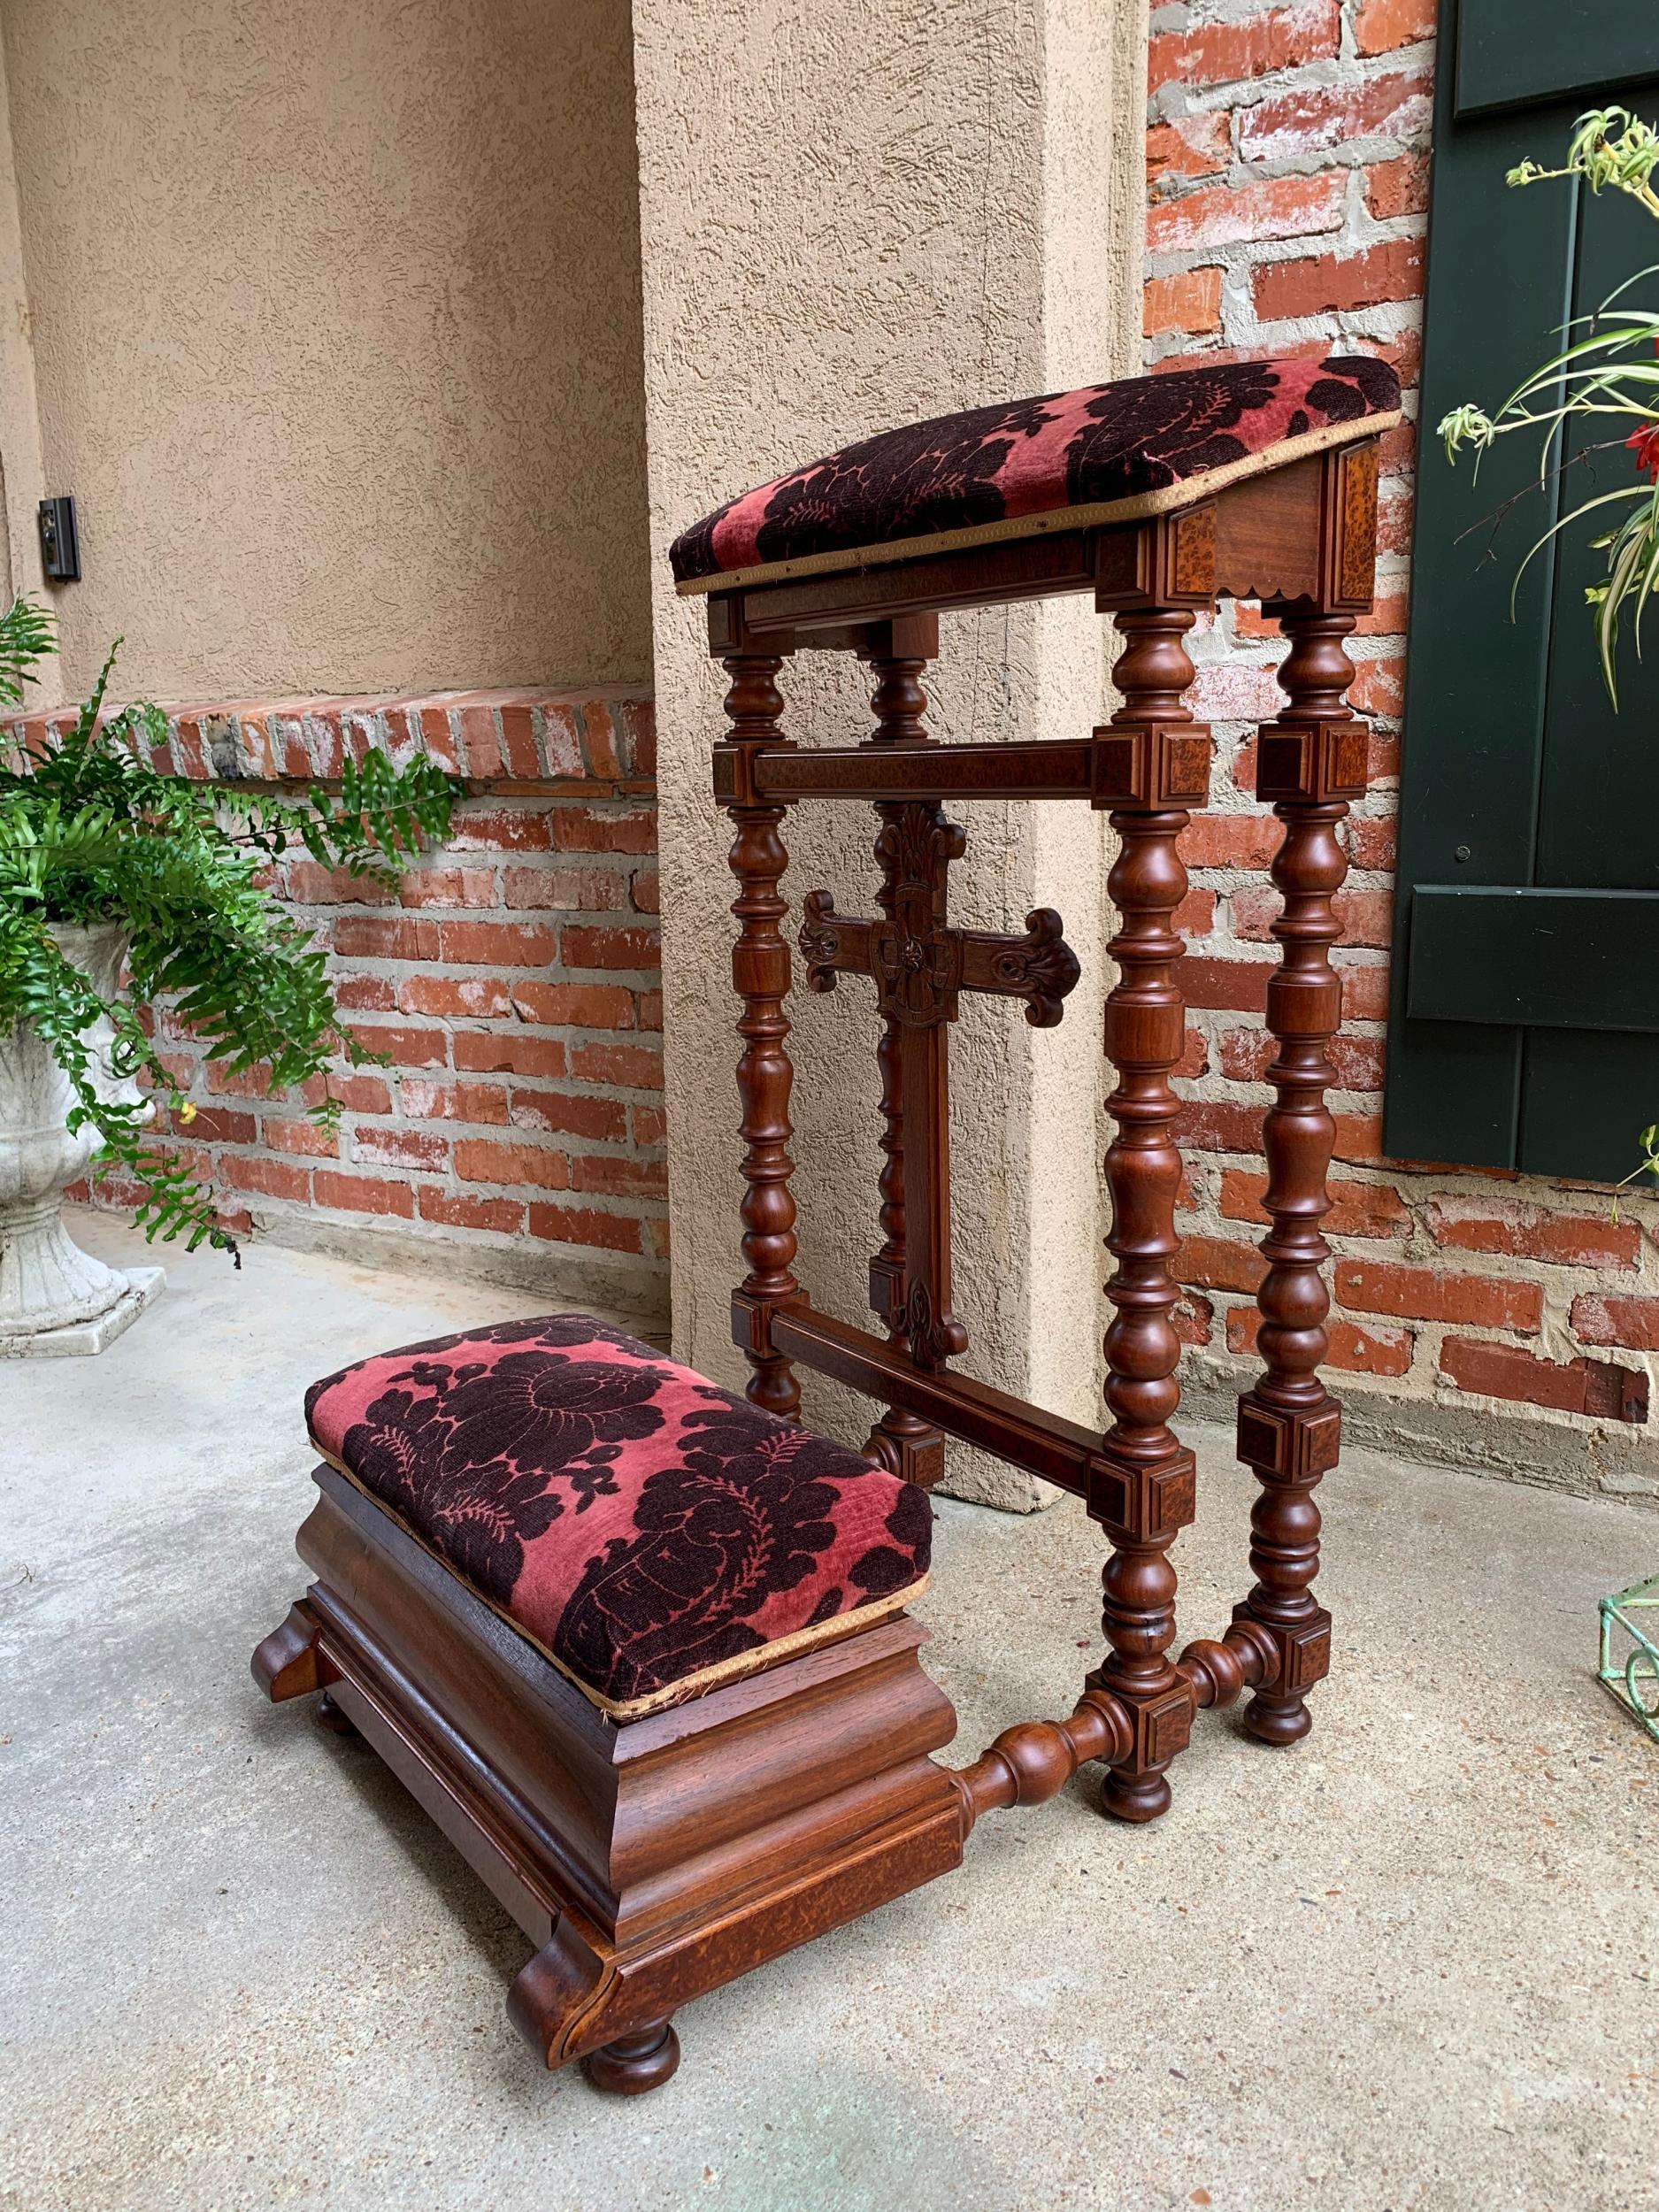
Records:
[[[358,1360],[310,1387],[305,1422],[619,1717],[845,1635],[927,1579],[922,1491],[584,1314]]]

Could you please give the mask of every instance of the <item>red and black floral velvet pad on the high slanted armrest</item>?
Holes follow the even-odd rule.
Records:
[[[1387,361],[1228,361],[971,407],[860,438],[684,531],[681,591],[1128,522],[1398,418]],[[1210,482],[1197,484],[1197,478]],[[880,555],[876,549],[885,546]]]

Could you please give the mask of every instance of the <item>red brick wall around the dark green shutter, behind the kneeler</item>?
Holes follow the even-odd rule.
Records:
[[[1340,343],[1394,361],[1416,416],[1431,35],[1431,0],[1155,7],[1148,365]],[[1363,1418],[1369,1409],[1374,1433],[1400,1425],[1427,1442],[1453,1438],[1455,1409],[1473,1400],[1509,1418],[1498,1431],[1509,1444],[1493,1458],[1509,1451],[1524,1471],[1557,1478],[1537,1429],[1555,1422],[1562,1467],[1577,1469],[1562,1478],[1582,1480],[1593,1464],[1582,1438],[1595,1425],[1648,1418],[1646,1356],[1659,1352],[1652,1201],[1626,1203],[1615,1225],[1601,1192],[1405,1170],[1380,1157],[1413,462],[1407,420],[1385,445],[1378,608],[1352,648],[1352,697],[1376,732],[1376,785],[1349,825],[1336,956],[1347,1026],[1332,1095],[1332,1365],[1347,1369],[1343,1396]],[[1250,790],[1250,732],[1281,703],[1279,648],[1254,608],[1225,606],[1192,650],[1194,706],[1219,737],[1221,812],[1186,841],[1192,883],[1212,907],[1186,960],[1183,1091],[1199,1146],[1181,1214],[1186,1332],[1203,1347],[1201,1374],[1232,1383],[1248,1374],[1254,1338],[1252,1234],[1265,1219],[1256,1133],[1270,1097],[1263,984],[1279,907],[1265,876],[1274,825]],[[1533,1422],[1526,1444],[1522,1418]],[[1579,1438],[1568,1444],[1562,1427]],[[1628,1427],[1613,1433],[1632,1438]],[[1659,1495],[1628,1455],[1606,1480]]]

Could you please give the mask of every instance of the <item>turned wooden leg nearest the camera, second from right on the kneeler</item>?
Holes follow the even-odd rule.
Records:
[[[1192,1725],[1192,1686],[1170,1661],[1175,1568],[1168,1548],[1194,1513],[1192,1453],[1168,1422],[1181,1400],[1181,1343],[1170,1323],[1179,1287],[1175,1199],[1181,1155],[1172,1128],[1179,1099],[1170,1068],[1186,1042],[1186,1006],[1175,982],[1181,938],[1172,916],[1186,894],[1175,841],[1188,825],[1179,801],[1208,790],[1210,732],[1192,723],[1186,611],[1117,617],[1124,657],[1115,681],[1124,708],[1097,741],[1113,745],[1113,827],[1121,852],[1108,878],[1119,914],[1110,953],[1117,984],[1106,1000],[1106,1057],[1117,1068],[1106,1152],[1117,1270],[1106,1285],[1117,1314],[1106,1332],[1106,1405],[1113,1425],[1093,1471],[1088,1511],[1113,1553],[1102,1575],[1106,1663],[1088,1677],[1130,1717],[1130,1743],[1110,1763],[1102,1803],[1121,1820],[1152,1820],[1170,1803],[1166,1767]]]

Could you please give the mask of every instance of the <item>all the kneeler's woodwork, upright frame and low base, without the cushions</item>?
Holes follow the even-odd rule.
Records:
[[[956,1714],[922,1672],[925,1632],[905,1615],[617,1723],[392,1515],[319,1467],[321,1498],[299,1533],[316,1579],[259,1646],[254,1677],[274,1701],[323,1692],[319,1719],[385,1759],[538,1944],[509,2011],[549,2066],[584,2057],[602,2088],[655,2088],[679,2064],[670,2022],[681,2004],[949,1871],[980,1814],[1040,1803],[1084,1763],[1106,1767],[1108,1812],[1155,1818],[1199,1708],[1250,1688],[1256,1736],[1305,1734],[1307,1690],[1329,1663],[1329,1617],[1312,1595],[1314,1486],[1336,1464],[1340,1425],[1318,1380],[1325,1046],[1340,1018],[1334,830],[1365,790],[1367,757],[1345,701],[1354,670],[1343,639],[1371,604],[1374,555],[1376,438],[1365,438],[1139,524],[710,597],[710,650],[730,675],[714,792],[737,832],[745,1274],[732,1332],[750,1363],[748,1396],[794,1413],[794,1367],[807,1365],[887,1407],[867,1451],[907,1480],[936,1482],[942,1440],[956,1436],[1082,1495],[1108,1542],[1106,1652],[1068,1719],[1009,1728],[958,1772],[933,1759]],[[1093,591],[1117,622],[1124,706],[1113,721],[1064,743],[929,739],[920,675],[938,653],[938,613],[1060,591]],[[1170,1429],[1181,1175],[1170,1071],[1183,1042],[1172,916],[1186,887],[1177,838],[1206,803],[1210,765],[1208,730],[1186,708],[1183,637],[1223,595],[1261,599],[1290,641],[1287,706],[1256,743],[1259,796],[1285,825],[1274,863],[1283,960],[1267,989],[1279,1051],[1263,1124],[1263,1374],[1239,1405],[1239,1453],[1261,1484],[1256,1582],[1219,1639],[1170,1657],[1168,1551],[1194,1513],[1192,1455]],[[876,730],[865,743],[807,752],[783,734],[776,677],[810,648],[869,664]],[[1102,1431],[949,1367],[967,1349],[949,1276],[958,995],[1020,998],[1026,1020],[1046,1026],[1077,980],[1046,909],[1022,938],[949,925],[947,876],[962,852],[962,830],[942,814],[949,799],[1079,799],[1110,810],[1119,834],[1119,980],[1106,1006],[1117,1265]],[[781,880],[787,810],[807,801],[863,801],[878,818],[878,914],[845,918],[814,894],[803,953],[814,989],[860,978],[883,1015],[880,1245],[869,1270],[880,1336],[816,1312],[794,1276]]]

